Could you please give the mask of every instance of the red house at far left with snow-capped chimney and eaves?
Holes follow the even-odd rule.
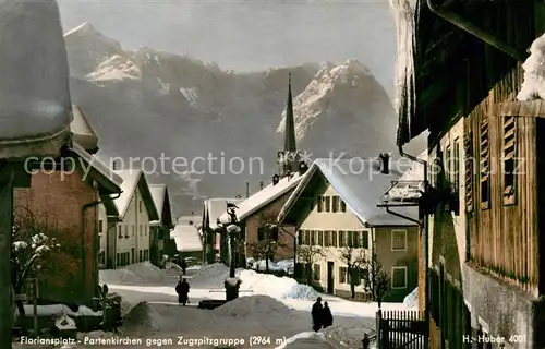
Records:
[[[48,168],[28,163],[34,171],[31,184],[14,190],[14,207],[16,219],[32,214],[55,227],[57,240],[66,246],[48,257],[49,267],[39,276],[40,299],[85,303],[95,296],[104,265],[106,220],[101,217],[118,214],[113,197],[121,193],[123,180],[92,155],[98,139],[89,133],[85,115],[76,106],[72,110],[72,145]]]

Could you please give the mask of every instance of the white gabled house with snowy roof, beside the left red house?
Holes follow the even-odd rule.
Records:
[[[108,256],[113,267],[149,261],[152,221],[159,220],[152,190],[141,169],[114,171],[123,179],[121,195],[113,201],[118,209],[116,227],[108,231],[112,248]]]

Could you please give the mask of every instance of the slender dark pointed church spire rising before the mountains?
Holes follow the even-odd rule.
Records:
[[[288,103],[286,106],[286,127],[283,152],[280,158],[281,173],[280,177],[286,177],[290,172],[294,173],[299,170],[300,156],[295,143],[295,119],[293,116],[293,98],[291,94],[291,72],[288,77]]]

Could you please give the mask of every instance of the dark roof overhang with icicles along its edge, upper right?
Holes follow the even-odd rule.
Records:
[[[431,134],[440,132],[458,117],[468,115],[524,61],[525,51],[536,37],[534,1],[392,0],[390,3],[398,38],[399,146],[426,130]],[[455,23],[456,17],[464,23]],[[509,25],[498,26],[498,23]],[[486,34],[488,41],[492,37],[511,53],[485,43],[484,36],[460,28],[460,24],[476,27]],[[509,84],[516,95],[516,73]]]

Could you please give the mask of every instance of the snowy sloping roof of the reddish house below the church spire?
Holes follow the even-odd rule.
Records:
[[[292,177],[284,177],[280,179],[280,181],[275,185],[270,183],[265,186],[257,193],[253,194],[249,198],[244,200],[237,206],[239,208],[235,209],[237,218],[239,220],[243,220],[259,208],[268,205],[276,198],[286,194],[290,190],[296,188],[296,185],[301,182],[301,180],[305,177],[305,174],[294,173]],[[228,219],[228,214],[223,209],[223,214],[218,216],[221,221]]]

